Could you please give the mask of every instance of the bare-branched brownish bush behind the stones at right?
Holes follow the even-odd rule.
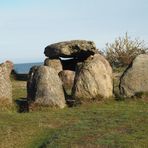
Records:
[[[113,67],[124,67],[139,54],[147,53],[145,42],[139,39],[131,40],[126,33],[124,37],[115,39],[114,43],[107,43],[105,55]]]

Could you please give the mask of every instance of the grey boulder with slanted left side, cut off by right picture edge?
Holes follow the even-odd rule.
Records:
[[[120,93],[125,97],[148,92],[148,54],[137,56],[120,79]]]

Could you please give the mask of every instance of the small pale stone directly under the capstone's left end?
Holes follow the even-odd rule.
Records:
[[[51,68],[54,68],[57,71],[57,73],[59,73],[60,71],[63,70],[60,59],[46,58],[45,61],[44,61],[44,65],[49,66]]]

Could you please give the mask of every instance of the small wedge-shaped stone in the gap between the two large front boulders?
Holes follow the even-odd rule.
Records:
[[[75,72],[71,70],[63,70],[59,73],[59,77],[63,83],[63,87],[68,95],[71,95]]]

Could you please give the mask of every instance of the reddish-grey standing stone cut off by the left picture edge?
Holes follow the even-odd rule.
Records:
[[[6,61],[0,64],[0,106],[12,104],[12,84],[10,74],[13,69],[13,63]]]

